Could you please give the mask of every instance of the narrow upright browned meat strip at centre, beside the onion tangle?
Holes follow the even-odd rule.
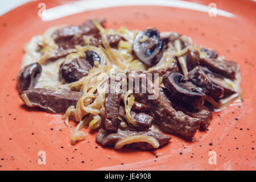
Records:
[[[118,111],[122,82],[122,77],[111,76],[108,82],[108,90],[106,90],[105,94],[105,129],[110,132],[117,132],[118,130]]]

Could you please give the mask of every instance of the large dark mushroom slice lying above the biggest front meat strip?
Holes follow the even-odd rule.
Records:
[[[201,92],[188,78],[177,72],[168,73],[163,77],[163,84],[179,100],[192,105],[196,109],[202,109],[205,94]]]

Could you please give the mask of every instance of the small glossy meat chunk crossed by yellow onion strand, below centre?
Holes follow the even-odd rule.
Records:
[[[120,106],[118,111],[119,116],[124,118],[126,121],[128,121],[125,113],[125,107]],[[133,110],[131,110],[131,118],[133,118],[133,121],[137,123],[139,126],[139,129],[149,129],[152,126],[152,123],[154,121],[154,118],[151,117],[151,115],[145,114],[145,113],[135,113]]]

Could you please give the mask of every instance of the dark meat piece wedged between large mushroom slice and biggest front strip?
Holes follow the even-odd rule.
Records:
[[[193,118],[198,118],[200,121],[200,130],[206,130],[210,125],[210,121],[212,120],[212,111],[210,111],[207,107],[203,106],[203,109],[195,110],[185,104],[185,102],[177,100],[177,98],[172,96],[172,94],[168,92],[167,89],[160,88],[160,92],[164,97],[166,97],[166,100],[172,107],[174,107],[175,110],[183,111],[183,113]]]

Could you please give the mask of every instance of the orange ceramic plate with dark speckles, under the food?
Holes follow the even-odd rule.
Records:
[[[73,1],[40,2],[50,9]],[[204,7],[210,3],[196,1],[201,2]],[[193,7],[189,4],[185,9],[163,5],[108,7],[43,21],[38,16],[38,1],[1,16],[0,170],[255,170],[256,3],[214,2],[217,9],[232,16],[210,17],[208,12],[202,12],[205,9],[189,10]],[[152,26],[160,31],[176,31],[191,36],[202,46],[216,49],[220,55],[241,65],[244,101],[214,113],[209,130],[197,132],[192,142],[174,136],[167,146],[155,151],[115,151],[99,146],[95,142],[96,133],[83,129],[88,137],[72,146],[71,131],[65,127],[61,115],[24,106],[15,79],[23,47],[32,36],[52,26],[79,24],[89,18],[106,18],[108,28],[126,26],[142,30]],[[46,164],[38,163],[40,151],[46,154],[43,156]],[[216,152],[216,164],[209,163],[210,151]]]

